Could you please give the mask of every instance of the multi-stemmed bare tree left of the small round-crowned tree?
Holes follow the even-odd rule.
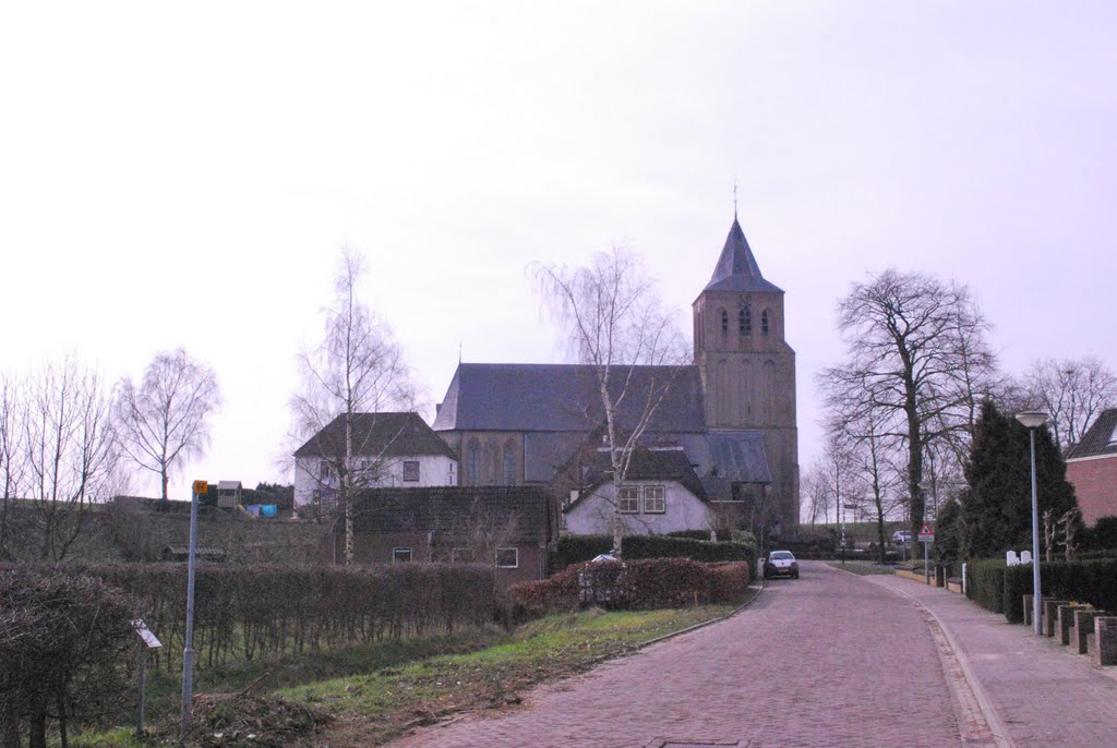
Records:
[[[73,356],[28,382],[22,423],[27,498],[41,530],[39,556],[60,560],[80,534],[87,506],[107,498],[116,462],[109,404],[97,375]]]

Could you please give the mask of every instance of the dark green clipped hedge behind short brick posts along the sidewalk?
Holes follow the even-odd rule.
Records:
[[[1003,613],[1012,623],[1023,621],[1023,596],[1032,592],[1031,565],[1005,566],[1001,559],[971,562],[966,573],[967,597]],[[1040,582],[1044,597],[1117,612],[1117,558],[1041,563]]]

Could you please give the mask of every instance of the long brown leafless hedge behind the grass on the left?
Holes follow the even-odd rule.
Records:
[[[67,565],[137,597],[163,643],[157,664],[181,661],[185,564]],[[493,569],[449,564],[360,567],[200,564],[194,581],[194,662],[369,643],[484,624],[493,615]]]

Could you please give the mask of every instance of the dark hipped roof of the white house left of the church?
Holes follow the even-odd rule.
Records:
[[[336,457],[345,452],[345,420],[338,415],[305,444],[295,457]],[[456,455],[418,413],[354,413],[353,452],[361,457]]]

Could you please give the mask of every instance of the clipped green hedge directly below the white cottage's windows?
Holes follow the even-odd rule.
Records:
[[[608,535],[571,535],[558,539],[556,568],[591,560],[612,549]],[[756,564],[756,549],[747,543],[710,543],[670,535],[627,535],[621,541],[626,560],[638,558],[689,558],[709,564],[747,562]]]

